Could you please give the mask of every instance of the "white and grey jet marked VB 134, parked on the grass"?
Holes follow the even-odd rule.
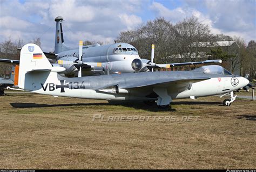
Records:
[[[203,66],[191,71],[154,71],[85,77],[63,77],[66,70],[52,66],[35,44],[21,49],[18,87],[38,94],[105,99],[108,101],[157,102],[168,107],[173,99],[230,95],[224,105],[236,98],[233,91],[245,87],[249,81],[232,75],[221,66]]]

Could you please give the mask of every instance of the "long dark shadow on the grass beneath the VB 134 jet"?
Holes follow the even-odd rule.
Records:
[[[16,108],[33,108],[33,107],[68,107],[68,106],[113,106],[113,105],[121,105],[124,107],[132,107],[134,109],[142,109],[146,111],[159,112],[159,111],[176,111],[176,109],[172,109],[171,106],[166,109],[160,109],[157,105],[145,105],[141,102],[129,103],[69,103],[69,104],[37,104],[37,103],[10,103],[12,107]]]

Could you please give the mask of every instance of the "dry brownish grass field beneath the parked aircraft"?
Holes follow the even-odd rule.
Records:
[[[256,101],[227,107],[214,96],[158,109],[37,94],[0,98],[0,169],[256,168]]]

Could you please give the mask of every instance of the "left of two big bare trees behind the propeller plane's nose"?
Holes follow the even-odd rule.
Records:
[[[161,62],[163,58],[173,53],[174,32],[170,21],[157,18],[139,26],[134,31],[121,32],[118,41],[133,45],[145,59],[150,59],[151,44],[155,44],[155,61]]]

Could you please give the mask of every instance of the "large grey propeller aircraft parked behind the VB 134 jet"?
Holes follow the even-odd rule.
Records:
[[[139,71],[153,71],[153,68],[170,68],[191,64],[221,63],[221,60],[206,60],[200,62],[156,64],[154,59],[154,45],[152,45],[151,61],[141,59],[135,47],[126,43],[110,45],[94,44],[83,46],[79,42],[79,48],[71,48],[64,44],[62,22],[58,16],[56,21],[55,51],[44,52],[46,58],[55,67],[64,67],[63,76],[89,76],[116,73],[134,73]],[[81,53],[82,52],[82,53]],[[79,53],[82,54],[79,56]],[[19,64],[19,60],[0,59],[0,63]]]

